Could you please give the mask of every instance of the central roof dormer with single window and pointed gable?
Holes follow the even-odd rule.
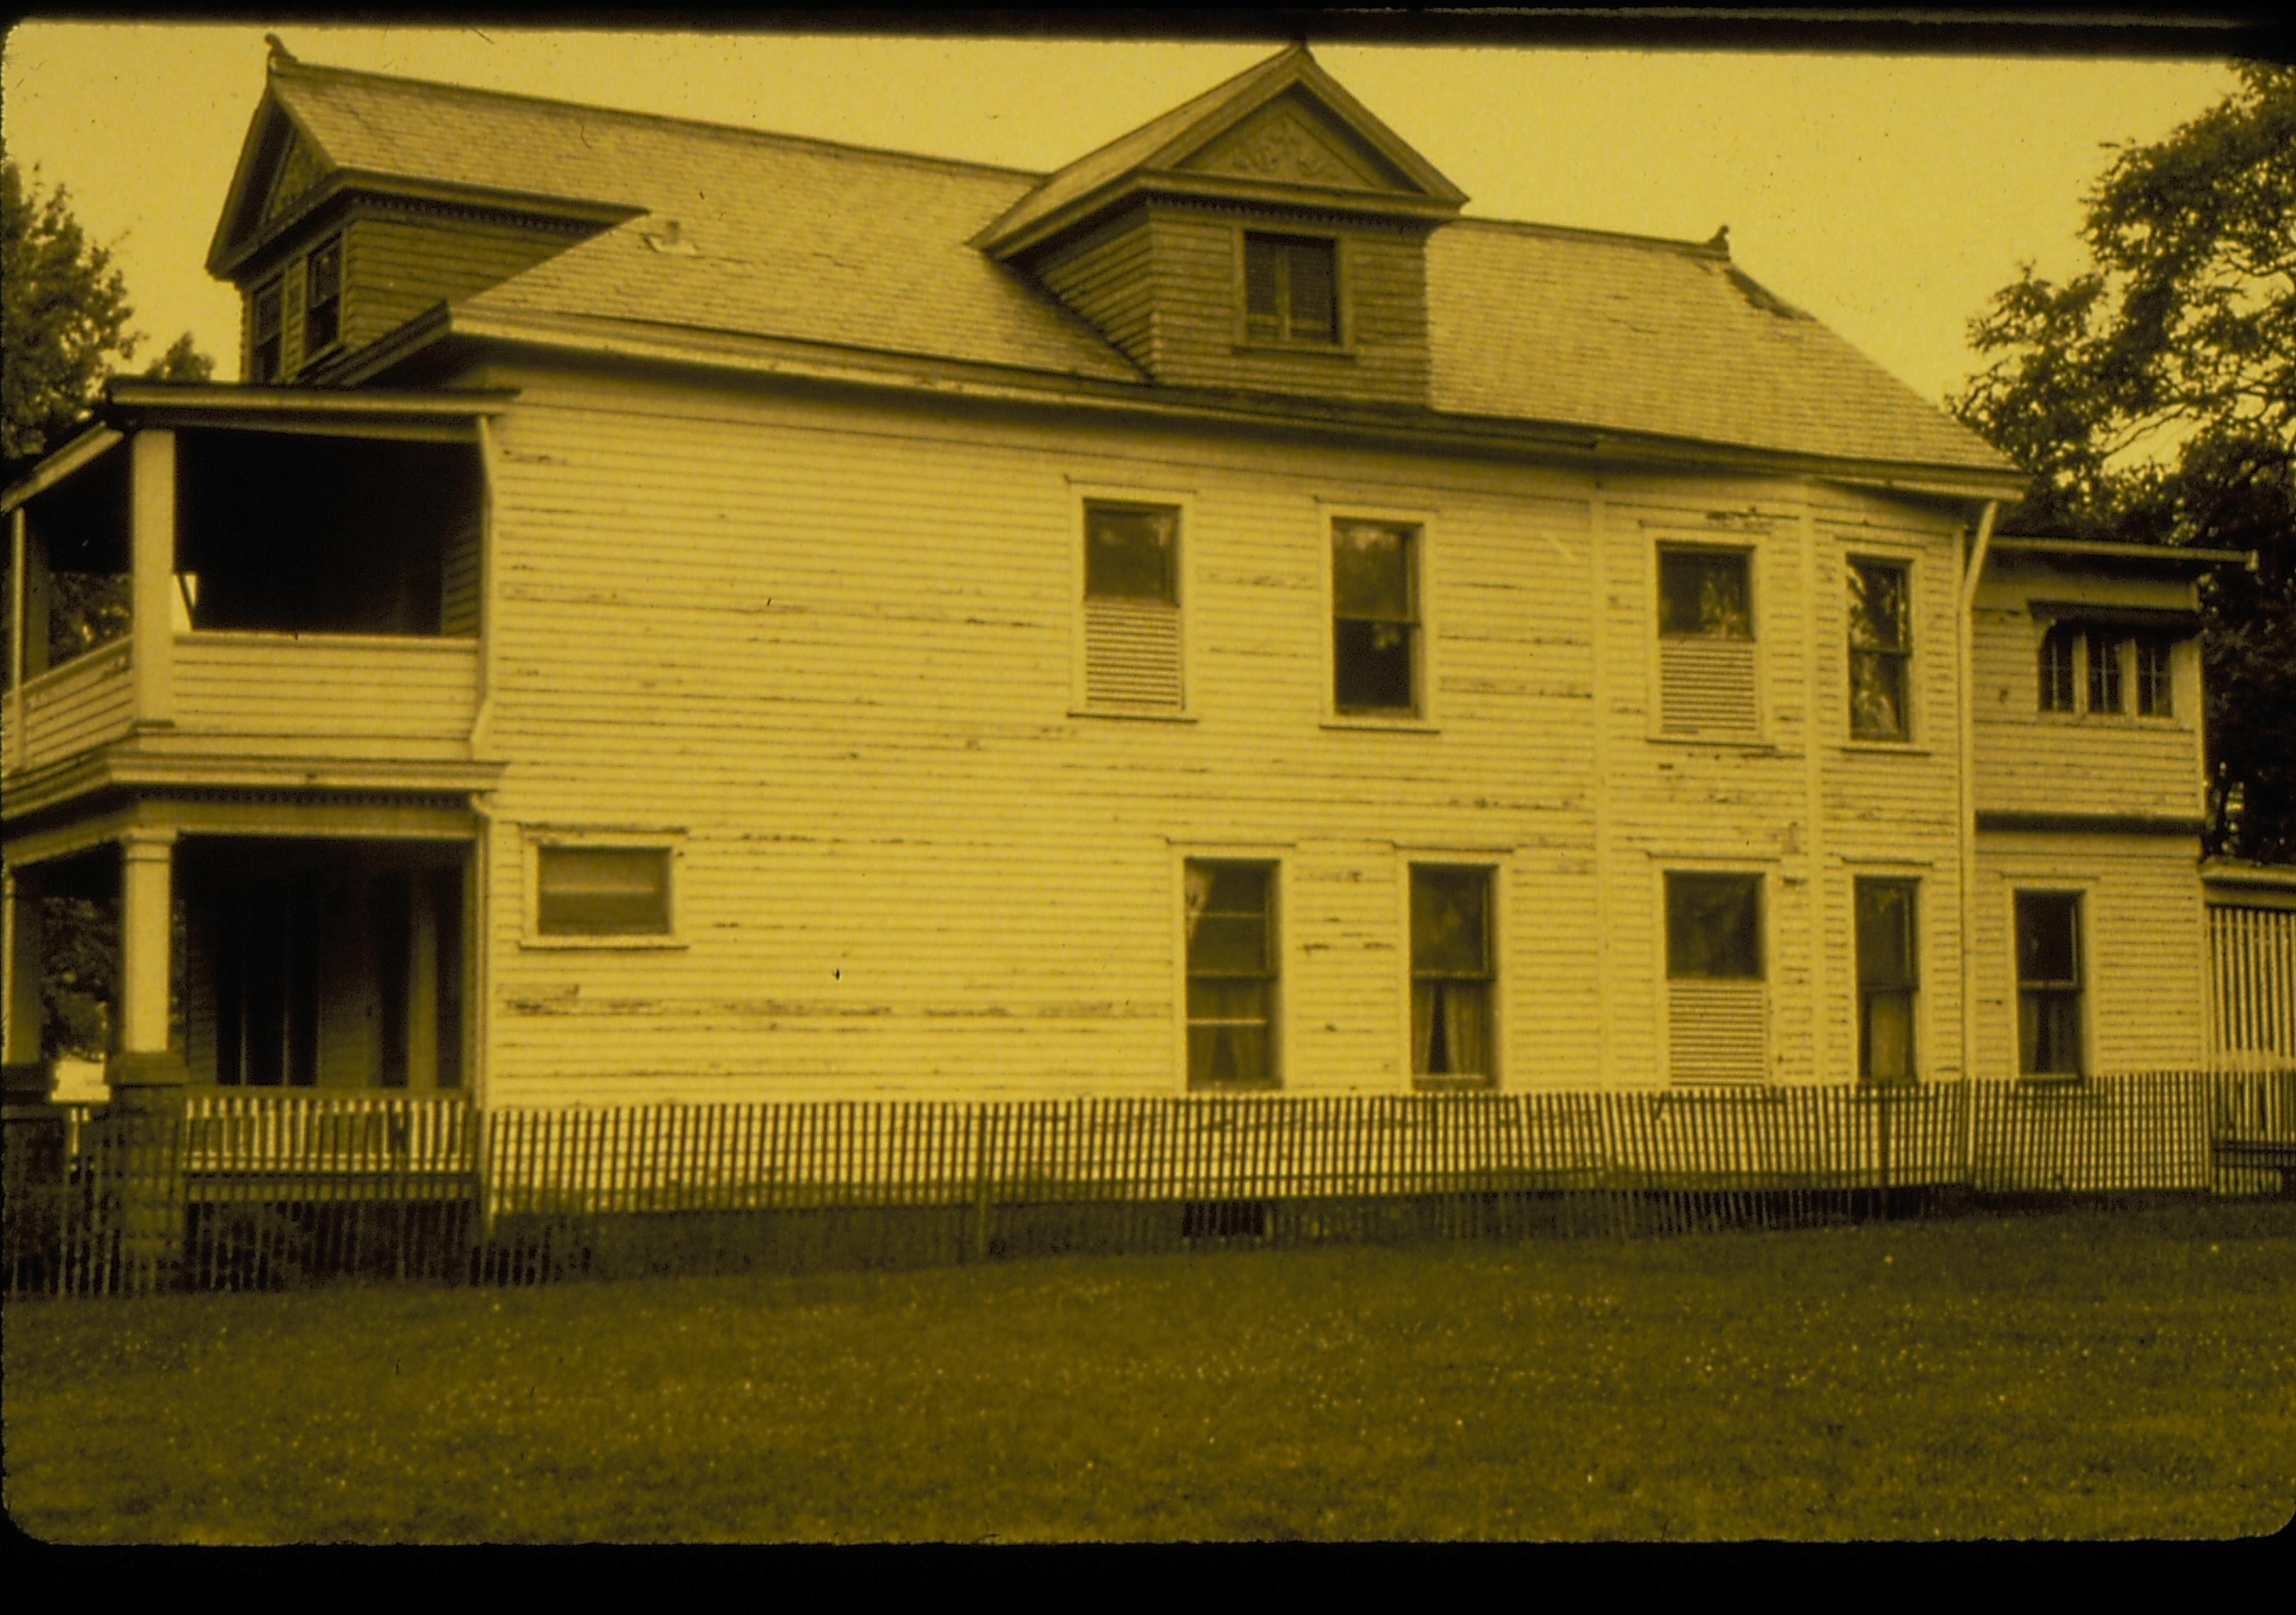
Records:
[[[1283,50],[974,239],[1178,388],[1426,404],[1426,239],[1467,197]]]

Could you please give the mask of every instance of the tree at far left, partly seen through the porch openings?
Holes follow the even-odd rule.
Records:
[[[87,241],[64,186],[44,190],[0,161],[0,461],[9,482],[67,443],[103,379],[133,360],[142,337],[110,248]],[[186,330],[145,369],[158,381],[207,381],[209,360]],[[62,654],[126,631],[124,578],[60,571],[51,617]],[[0,613],[5,617],[5,613]],[[11,633],[14,622],[0,633]],[[0,638],[0,654],[5,654]],[[119,927],[113,904],[44,897],[44,1044],[101,1053]]]

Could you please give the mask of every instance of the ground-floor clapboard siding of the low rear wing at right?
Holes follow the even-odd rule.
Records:
[[[2018,1074],[2016,890],[2082,892],[2092,1071],[2200,1064],[2209,931],[2195,858],[2190,837],[1981,833],[1975,1074]]]

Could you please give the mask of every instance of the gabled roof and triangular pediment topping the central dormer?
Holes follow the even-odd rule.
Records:
[[[1426,220],[1467,200],[1293,46],[1049,174],[974,245],[1010,259],[1146,190]]]

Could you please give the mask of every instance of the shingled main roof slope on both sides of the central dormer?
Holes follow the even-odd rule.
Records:
[[[1047,174],[298,62],[269,94],[331,167],[645,209],[455,303],[471,314],[1153,385],[969,245]],[[1720,248],[1458,218],[1428,243],[1428,321],[1437,413],[2009,470]]]

